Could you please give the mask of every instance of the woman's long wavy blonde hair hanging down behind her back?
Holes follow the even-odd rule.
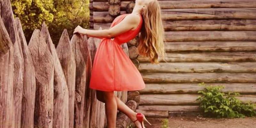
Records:
[[[164,60],[165,55],[164,27],[158,1],[151,1],[148,4],[148,8],[143,10],[142,16],[144,22],[139,37],[139,54],[149,57],[151,63],[158,64],[158,57],[162,56]]]

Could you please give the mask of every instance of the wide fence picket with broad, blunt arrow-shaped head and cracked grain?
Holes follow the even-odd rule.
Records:
[[[54,60],[40,30],[34,31],[28,49],[36,73],[34,127],[52,128]]]

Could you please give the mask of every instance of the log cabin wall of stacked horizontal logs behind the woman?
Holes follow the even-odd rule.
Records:
[[[130,13],[134,5],[131,0],[109,2],[91,0],[91,28],[109,28],[115,15]],[[130,58],[135,54],[132,61],[146,83],[146,88],[139,91],[138,111],[153,117],[197,111],[201,82],[224,85],[225,92],[240,92],[239,99],[255,102],[256,1],[159,0],[159,3],[168,63],[159,59],[159,65],[151,64],[147,57],[136,56],[136,48],[128,45]]]

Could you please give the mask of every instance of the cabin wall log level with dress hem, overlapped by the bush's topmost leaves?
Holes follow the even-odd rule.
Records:
[[[256,83],[206,83],[207,85],[222,85],[223,92],[239,92],[241,94],[256,94]],[[160,83],[146,84],[146,88],[140,90],[140,94],[197,94],[204,87],[198,83]]]

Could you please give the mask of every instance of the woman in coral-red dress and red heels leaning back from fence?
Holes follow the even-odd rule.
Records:
[[[139,54],[149,57],[151,63],[158,63],[158,56],[164,58],[164,29],[157,0],[136,0],[132,13],[116,17],[109,29],[77,27],[74,31],[74,34],[102,39],[95,53],[90,88],[97,90],[97,99],[106,105],[108,128],[116,127],[117,109],[130,117],[138,128],[145,128],[145,116],[132,111],[114,95],[114,91],[145,88],[140,72],[120,47],[139,32]]]

